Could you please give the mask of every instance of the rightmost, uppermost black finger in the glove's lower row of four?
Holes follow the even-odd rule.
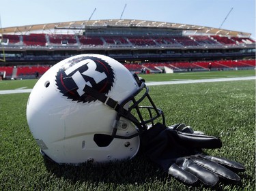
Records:
[[[236,172],[244,172],[245,171],[244,165],[240,164],[239,162],[229,160],[227,158],[221,158],[218,156],[208,156],[208,155],[203,155],[203,154],[199,154],[199,156],[206,160],[211,160],[213,162],[217,162],[218,164],[221,164],[221,165],[227,167],[228,169],[231,169],[231,171],[236,171]]]

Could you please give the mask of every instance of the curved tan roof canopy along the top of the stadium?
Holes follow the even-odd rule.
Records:
[[[147,29],[168,29],[180,30],[184,35],[223,35],[236,37],[250,37],[251,33],[241,31],[230,31],[227,29],[217,29],[213,27],[203,27],[192,24],[179,24],[171,22],[158,22],[148,20],[81,20],[72,22],[55,22],[48,24],[34,24],[18,27],[2,28],[3,34],[23,34],[29,33],[77,33],[76,31],[85,31],[89,29],[107,29],[107,28],[147,28]]]

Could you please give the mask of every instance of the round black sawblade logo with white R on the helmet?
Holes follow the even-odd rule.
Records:
[[[95,101],[85,86],[107,94],[114,82],[114,73],[111,66],[98,57],[81,56],[69,60],[56,75],[56,85],[63,96],[78,102]]]

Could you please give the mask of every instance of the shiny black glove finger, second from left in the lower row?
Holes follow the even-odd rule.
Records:
[[[190,160],[188,157],[178,158],[176,160],[177,166],[184,171],[191,173],[197,177],[205,186],[214,186],[218,182],[218,175],[212,173],[208,169],[201,167],[200,165]]]

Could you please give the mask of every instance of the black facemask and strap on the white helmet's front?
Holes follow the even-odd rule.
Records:
[[[117,103],[117,101],[100,94],[100,92],[91,92],[87,90],[89,94],[91,92],[91,96],[99,99],[100,101],[104,102],[105,105],[109,105],[109,107],[112,107],[115,109],[115,111],[117,111],[117,116],[113,124],[113,132],[111,135],[113,138],[132,139],[133,137],[141,135],[141,133],[146,131],[148,128],[154,126],[158,118],[162,118],[162,124],[165,124],[165,115],[163,111],[158,109],[152,101],[149,94],[149,88],[145,85],[145,81],[143,79],[140,80],[136,74],[133,76],[139,85],[139,89],[137,92],[130,95],[130,97],[124,99],[122,103]],[[106,99],[103,99],[102,97],[106,97]],[[111,104],[106,104],[107,102],[110,102]],[[141,104],[149,106],[143,106]],[[117,129],[125,128],[127,125],[126,122],[120,120],[121,117],[132,122],[132,124],[137,127],[138,133],[134,133],[133,135],[129,136],[117,135]]]

